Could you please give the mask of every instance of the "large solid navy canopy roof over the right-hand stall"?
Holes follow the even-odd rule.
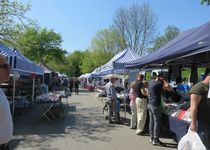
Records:
[[[182,32],[159,50],[135,61],[125,63],[125,67],[164,64],[210,50],[210,22]]]

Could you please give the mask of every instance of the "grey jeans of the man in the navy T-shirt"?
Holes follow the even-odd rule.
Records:
[[[153,138],[159,138],[160,136],[160,126],[161,126],[161,107],[155,107],[148,104],[149,110],[149,133]]]

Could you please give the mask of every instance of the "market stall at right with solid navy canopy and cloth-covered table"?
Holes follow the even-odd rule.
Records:
[[[152,67],[191,68],[191,81],[198,82],[197,69],[199,66],[207,67],[210,64],[210,22],[199,27],[182,32],[179,36],[168,42],[159,50],[148,54],[141,59],[125,63],[125,67],[138,67],[141,69]],[[179,72],[174,71],[174,72]],[[177,108],[183,105],[185,101],[177,103]],[[186,105],[186,103],[184,103]],[[186,110],[166,109],[165,119],[168,122],[169,129],[177,136],[177,140],[187,133],[189,127],[189,105]],[[168,110],[171,110],[172,113]],[[174,112],[173,112],[174,111]],[[187,118],[187,119],[186,119]],[[185,120],[186,119],[186,120]]]

